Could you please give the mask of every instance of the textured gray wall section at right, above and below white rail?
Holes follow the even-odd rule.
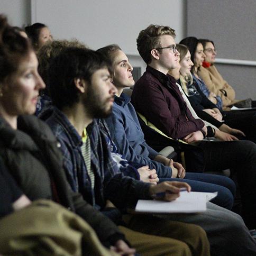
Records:
[[[217,58],[256,60],[256,1],[187,1],[187,36],[211,39]],[[256,100],[256,67],[216,65],[237,98]]]

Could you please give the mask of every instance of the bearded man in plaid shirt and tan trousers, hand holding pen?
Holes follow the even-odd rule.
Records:
[[[80,191],[90,204],[107,216],[112,214],[106,209],[107,199],[123,211],[127,207],[133,208],[139,198],[152,199],[158,191],[173,191],[168,195],[172,200],[179,196],[179,187],[190,189],[185,182],[152,185],[123,176],[118,171],[105,136],[94,120],[107,116],[113,105],[116,89],[110,83],[108,70],[107,61],[95,51],[68,48],[60,53],[49,67],[48,87],[54,107],[47,119],[60,142],[66,176],[72,189]],[[111,216],[120,224],[118,217]],[[209,254],[206,235],[198,226],[162,221],[153,216],[142,218],[134,215],[132,220],[138,223],[132,226],[138,233],[134,234],[129,228],[120,229],[139,253]]]

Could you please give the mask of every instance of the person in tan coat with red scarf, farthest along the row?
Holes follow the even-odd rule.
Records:
[[[237,101],[235,90],[223,79],[214,65],[217,55],[214,42],[208,39],[199,39],[199,42],[203,45],[205,57],[203,66],[198,70],[198,75],[203,79],[210,92],[221,96],[223,109],[226,109]],[[248,101],[251,102],[250,99]],[[246,100],[242,100],[242,102],[246,102]],[[255,100],[251,102],[251,106],[256,106]],[[244,107],[250,107],[250,104],[248,106],[244,105]]]

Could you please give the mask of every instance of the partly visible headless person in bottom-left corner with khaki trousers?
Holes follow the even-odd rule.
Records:
[[[76,214],[50,200],[31,203],[1,157],[0,205],[0,254],[57,255],[61,251],[70,256],[86,252],[112,255],[100,244],[93,229]]]

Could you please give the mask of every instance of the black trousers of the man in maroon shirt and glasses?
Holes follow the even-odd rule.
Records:
[[[231,169],[236,173],[242,198],[242,216],[249,229],[256,228],[256,144],[251,141],[200,142],[205,170]]]

